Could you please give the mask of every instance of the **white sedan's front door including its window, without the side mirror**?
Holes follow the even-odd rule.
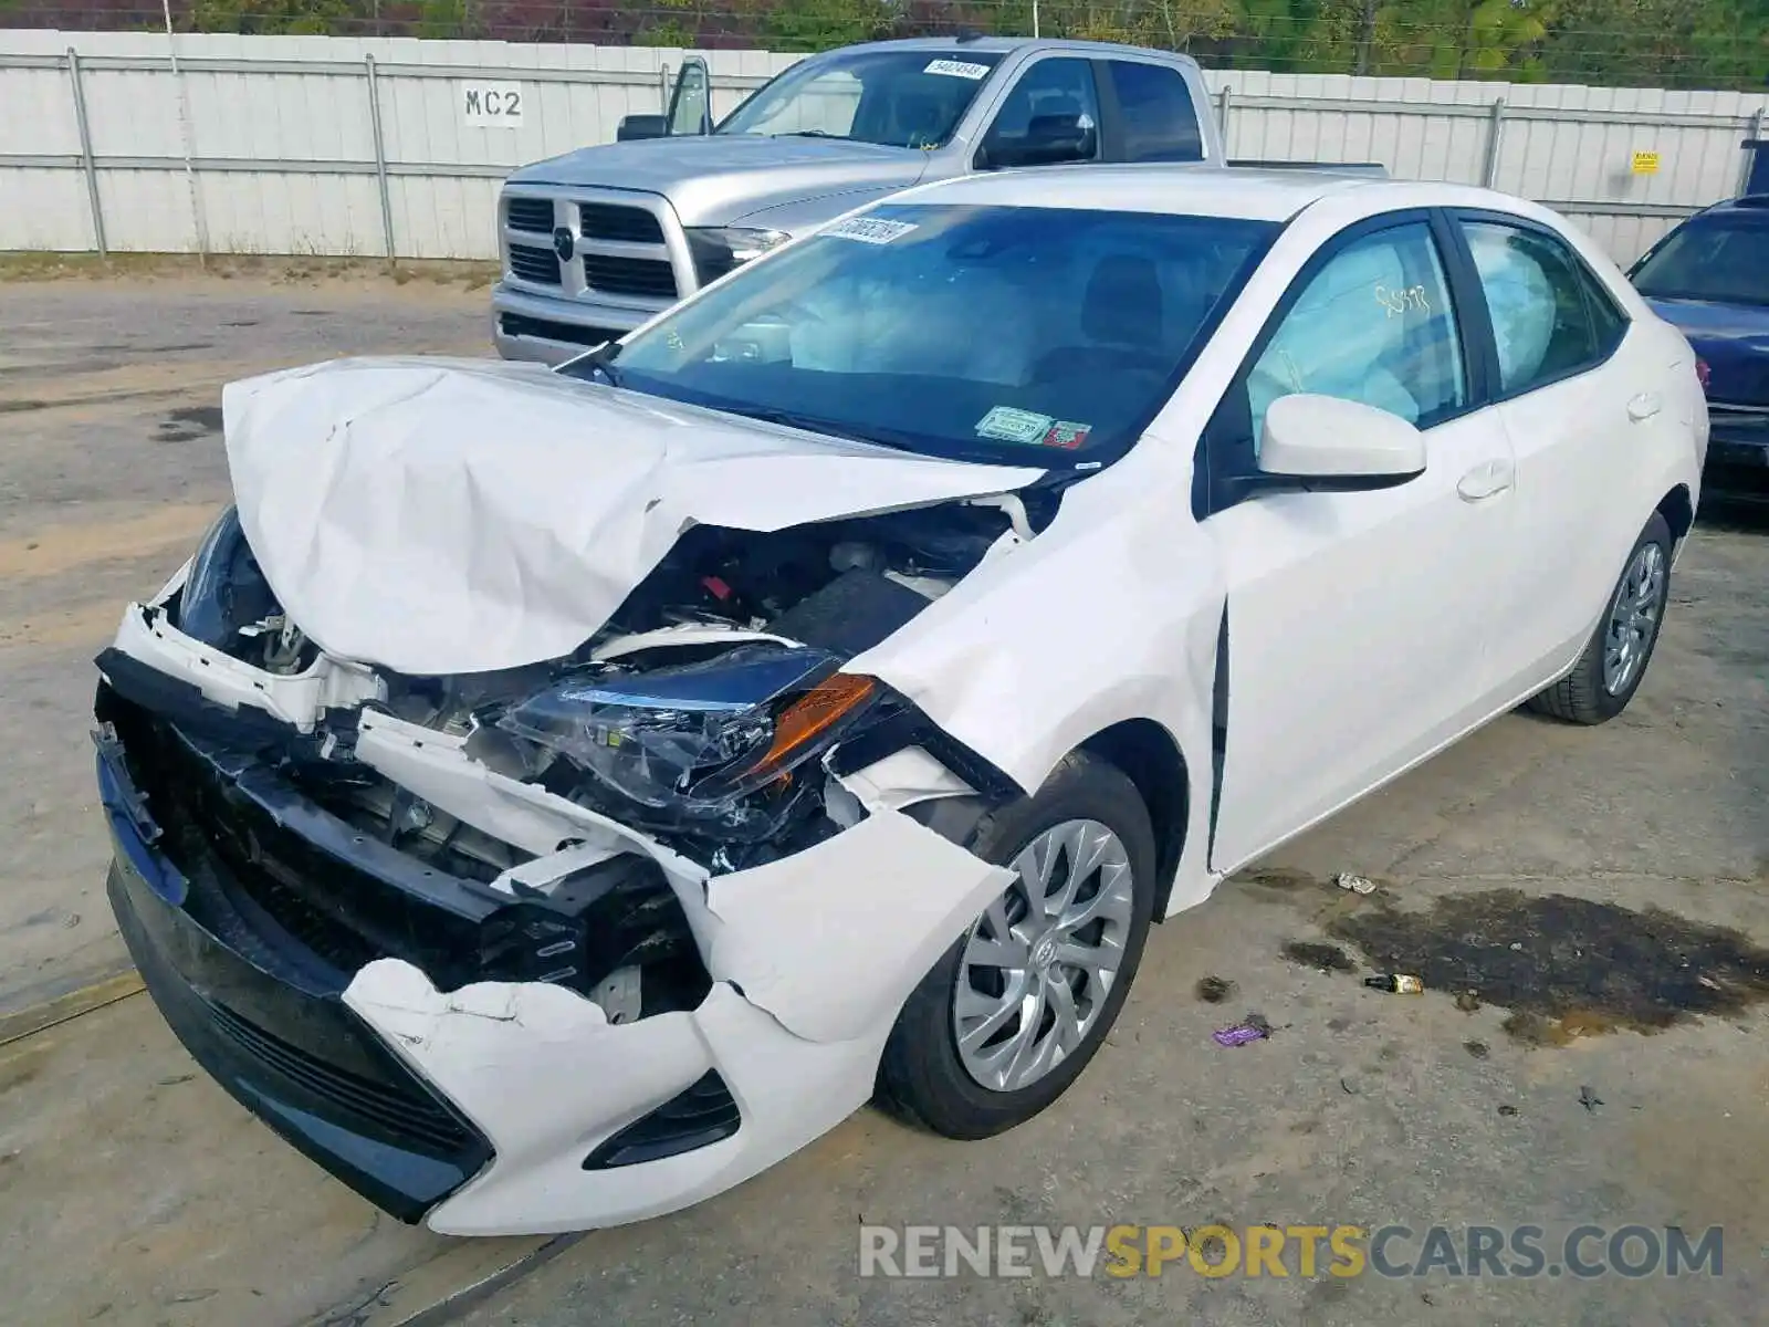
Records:
[[[1491,713],[1511,444],[1475,402],[1428,216],[1334,241],[1206,433],[1203,529],[1226,573],[1228,695],[1212,867],[1233,871]],[[1267,407],[1355,400],[1424,433],[1424,474],[1235,497]],[[1221,704],[1221,697],[1219,697]]]

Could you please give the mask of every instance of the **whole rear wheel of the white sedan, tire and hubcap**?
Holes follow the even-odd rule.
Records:
[[[1604,724],[1640,690],[1670,602],[1672,534],[1658,511],[1640,531],[1610,607],[1573,671],[1530,697],[1528,708],[1569,724]]]

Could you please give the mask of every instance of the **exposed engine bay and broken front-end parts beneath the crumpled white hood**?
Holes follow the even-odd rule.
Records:
[[[439,989],[568,986],[610,1021],[692,1009],[704,961],[655,862],[591,853],[525,883],[534,844],[467,825],[357,759],[363,713],[460,741],[486,770],[642,832],[708,876],[754,869],[863,814],[837,773],[939,743],[948,768],[966,768],[969,754],[913,704],[840,669],[1031,538],[1054,495],[1028,499],[1031,513],[1026,499],[989,497],[777,533],[697,525],[570,656],[458,676],[364,669],[373,695],[324,708],[311,731],[248,729],[212,706],[214,725],[156,715],[129,685],[138,665],[110,651],[99,718],[180,871],[244,881],[251,906],[340,975],[391,955]],[[333,664],[283,614],[232,510],[149,612],[274,678]],[[991,773],[980,764],[969,782]],[[336,828],[281,833],[297,805]],[[550,863],[571,844],[541,853]],[[370,849],[382,856],[364,860]]]

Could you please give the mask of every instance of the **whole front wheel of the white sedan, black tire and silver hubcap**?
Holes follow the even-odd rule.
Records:
[[[1099,1051],[1148,938],[1155,837],[1136,786],[1070,756],[968,848],[1014,871],[904,1003],[883,1097],[948,1138],[987,1138],[1056,1101]]]

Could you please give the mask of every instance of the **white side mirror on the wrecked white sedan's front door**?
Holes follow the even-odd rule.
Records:
[[[1295,479],[1297,487],[1355,490],[1389,488],[1424,471],[1424,435],[1375,405],[1297,393],[1279,396],[1265,412],[1261,474]]]

